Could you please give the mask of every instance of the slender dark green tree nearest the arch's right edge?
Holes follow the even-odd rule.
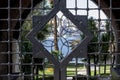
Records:
[[[103,55],[101,55],[101,60],[104,61],[104,64],[106,64],[107,59],[109,58],[108,53],[109,53],[109,47],[111,46],[111,44],[109,44],[109,42],[113,42],[114,41],[114,35],[113,32],[110,31],[110,24],[108,21],[105,22],[105,30],[106,32],[102,34],[102,49],[101,52],[105,53]],[[113,44],[112,44],[113,45]],[[104,74],[106,73],[106,65],[104,65]]]

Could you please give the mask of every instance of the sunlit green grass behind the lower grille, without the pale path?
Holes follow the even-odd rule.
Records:
[[[85,69],[84,66],[77,66],[77,71]],[[97,75],[107,76],[110,74],[110,66],[106,66],[106,74],[104,74],[104,66],[100,66],[100,70],[97,69]],[[39,71],[39,75],[54,75],[54,69],[52,67],[45,68],[44,71]],[[76,68],[75,66],[68,66],[67,67],[67,76],[75,76],[76,75]],[[91,76],[94,76],[94,70],[91,70]]]

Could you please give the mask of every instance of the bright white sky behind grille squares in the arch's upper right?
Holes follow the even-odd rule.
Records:
[[[66,0],[67,4],[67,8],[75,8],[75,0]],[[83,8],[83,9],[86,9],[87,8],[87,0],[76,0],[77,1],[77,7],[78,8]],[[89,13],[88,13],[88,17],[94,17],[96,19],[99,19],[99,11],[98,9],[95,9],[95,8],[98,8],[98,6],[91,0],[88,0],[88,8],[90,9],[93,9],[94,10],[89,10]],[[75,14],[75,11],[71,11],[73,14]],[[77,11],[78,15],[87,15],[87,11],[86,10],[78,10]],[[100,11],[100,18],[101,19],[107,19],[106,15],[104,14],[104,12],[101,10]]]

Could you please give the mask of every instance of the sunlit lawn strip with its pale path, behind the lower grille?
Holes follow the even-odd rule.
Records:
[[[91,67],[91,76],[94,76],[94,67]],[[82,75],[86,75],[87,72],[86,72],[86,68],[82,65],[82,66],[77,66],[77,68],[75,66],[68,66],[67,67],[67,76],[75,76],[75,75],[79,75],[81,74]],[[45,68],[44,71],[39,71],[39,74],[40,75],[54,75],[54,69],[52,67],[47,67]],[[103,75],[104,74],[104,66],[100,66],[97,67],[97,70],[96,70],[96,74],[97,75]],[[106,74],[110,74],[110,66],[106,66]],[[104,76],[104,75],[103,75]]]

